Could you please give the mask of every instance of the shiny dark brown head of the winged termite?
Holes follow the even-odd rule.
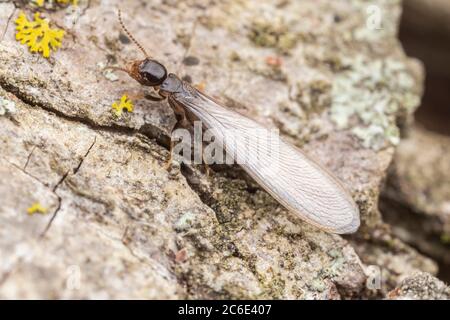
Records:
[[[166,67],[149,58],[133,62],[128,74],[140,84],[149,87],[160,86],[167,78]]]

